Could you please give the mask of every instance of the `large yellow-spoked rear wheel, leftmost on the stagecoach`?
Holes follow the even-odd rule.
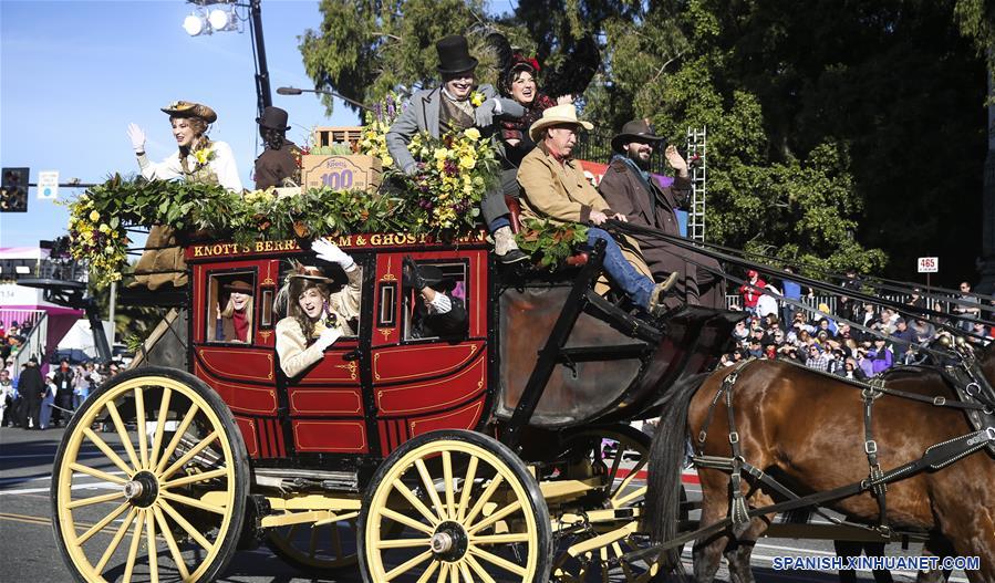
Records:
[[[196,377],[165,367],[115,377],[73,416],[52,471],[70,572],[214,581],[241,534],[248,471],[230,410]]]

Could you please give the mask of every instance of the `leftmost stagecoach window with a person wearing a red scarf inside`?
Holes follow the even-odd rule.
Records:
[[[251,271],[209,275],[204,311],[207,342],[251,342],[256,295],[256,273]],[[271,299],[269,304],[272,304]]]

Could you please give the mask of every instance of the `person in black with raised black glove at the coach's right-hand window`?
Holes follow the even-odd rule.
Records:
[[[466,305],[449,293],[453,280],[435,266],[418,266],[411,256],[404,258],[404,285],[417,291],[411,337],[456,336],[466,332]]]

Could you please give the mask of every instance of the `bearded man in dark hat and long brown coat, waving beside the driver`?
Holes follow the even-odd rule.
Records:
[[[687,163],[674,146],[667,146],[664,156],[677,171],[672,187],[663,188],[650,176],[650,157],[663,138],[653,133],[650,124],[635,119],[622,126],[612,138],[615,152],[598,189],[604,200],[625,216],[629,222],[659,229],[680,237],[676,209],[690,204],[691,180]],[[725,308],[725,280],[719,275],[722,267],[715,259],[661,241],[652,236],[634,236],[646,264],[654,275],[676,272],[677,285],[668,304],[682,301],[693,305]]]

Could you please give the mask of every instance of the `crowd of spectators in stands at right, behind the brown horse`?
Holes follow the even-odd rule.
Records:
[[[743,309],[749,313],[749,317],[736,324],[733,331],[735,350],[722,356],[722,364],[725,366],[746,358],[780,360],[862,381],[895,365],[922,363],[927,357],[920,350],[922,346],[933,343],[941,335],[952,334],[930,320],[915,317],[918,313],[911,309],[908,312],[892,308],[881,309],[842,296],[838,298],[835,312],[826,303],[819,303],[817,310],[788,305],[776,298],[802,299],[802,288],[796,282],[790,279],[781,281],[781,289],[785,290],[781,293],[776,285],[764,282],[754,271],[747,278],[750,284],[740,287],[739,293]],[[860,280],[852,272],[842,282],[842,287],[847,289],[857,290],[860,285]],[[759,295],[756,288],[761,288],[774,296]],[[963,283],[961,290],[966,293],[971,288]],[[812,290],[806,291],[808,298],[815,296]],[[977,302],[977,298],[974,301]],[[920,290],[911,294],[906,305],[925,308]],[[995,301],[992,305],[995,305]],[[940,304],[933,304],[932,309],[942,311]],[[976,317],[982,315],[982,310],[981,306],[965,309],[964,305],[954,303],[947,313]],[[871,332],[851,327],[850,324],[838,321],[840,319],[861,324]],[[955,319],[951,319],[949,323],[970,332],[966,335],[967,342],[978,346],[987,346],[995,336],[995,327],[982,323],[960,322]]]

